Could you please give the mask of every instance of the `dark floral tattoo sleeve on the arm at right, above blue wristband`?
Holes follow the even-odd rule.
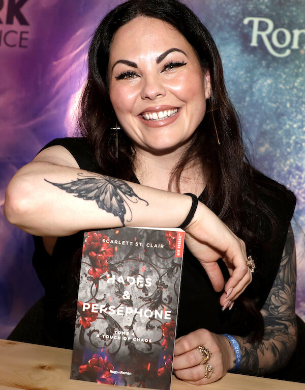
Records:
[[[297,339],[295,288],[296,259],[290,226],[278,274],[261,311],[265,323],[263,339],[250,344],[246,338],[237,337],[241,347],[238,372],[263,375],[285,367]]]

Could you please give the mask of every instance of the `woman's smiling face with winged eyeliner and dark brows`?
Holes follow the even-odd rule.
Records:
[[[170,24],[137,17],[114,35],[109,58],[110,100],[136,150],[184,149],[205,114],[209,72]]]

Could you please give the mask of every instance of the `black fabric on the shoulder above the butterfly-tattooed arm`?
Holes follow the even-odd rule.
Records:
[[[100,167],[94,156],[94,152],[85,137],[55,138],[54,140],[46,144],[40,150],[40,152],[52,146],[63,146],[64,148],[66,148],[75,158],[81,169],[92,172],[100,171]]]

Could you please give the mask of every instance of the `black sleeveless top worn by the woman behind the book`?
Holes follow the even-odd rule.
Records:
[[[43,149],[54,145],[61,145],[69,150],[81,169],[102,174],[84,138],[58,138]],[[135,176],[133,181],[138,182]],[[275,190],[279,188],[279,184],[262,174],[256,174],[256,181],[260,187],[263,186],[266,189],[262,193],[258,192],[258,195],[282,221],[277,242],[270,250],[264,250],[264,252],[257,249],[251,250],[253,258],[260,259],[260,261],[253,274],[253,281],[245,293],[254,299],[260,310],[278,272],[287,230],[295,207],[295,197],[284,186],[281,186],[279,195]],[[34,237],[33,265],[45,288],[41,344],[63,348],[73,347],[78,289],[77,269],[80,265],[82,239],[83,232],[69,237],[58,237],[53,254],[49,256],[43,246],[42,238]],[[248,335],[254,329],[255,324],[251,319],[245,318],[245,310],[238,299],[231,311],[222,311],[219,303],[222,293],[214,291],[198,260],[187,247],[185,249],[176,336],[186,335],[198,328],[206,328],[215,333]],[[228,276],[223,262],[219,261],[219,264],[225,277]],[[67,313],[74,315],[69,316]]]

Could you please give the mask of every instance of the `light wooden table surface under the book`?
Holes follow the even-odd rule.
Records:
[[[0,340],[0,389],[114,390],[126,387],[70,379],[72,351]],[[172,390],[304,390],[303,383],[227,374],[217,382],[195,386],[173,378]]]

